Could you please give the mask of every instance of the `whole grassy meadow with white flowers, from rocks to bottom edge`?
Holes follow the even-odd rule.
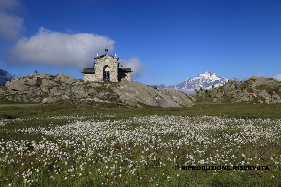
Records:
[[[0,186],[281,186],[281,105],[11,104],[0,106],[0,118],[16,118],[0,121]]]

